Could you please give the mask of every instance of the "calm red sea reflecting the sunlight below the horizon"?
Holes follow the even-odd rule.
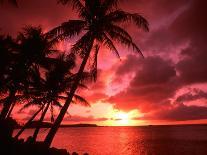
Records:
[[[207,155],[207,126],[61,128],[52,145],[90,155]]]

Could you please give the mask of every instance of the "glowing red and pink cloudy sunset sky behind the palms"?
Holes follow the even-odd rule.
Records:
[[[102,49],[97,82],[79,92],[91,107],[72,105],[64,123],[207,123],[206,6],[206,0],[123,2],[121,8],[138,12],[149,21],[148,33],[123,25],[145,58],[118,46],[119,60]],[[0,33],[15,36],[25,25],[41,25],[46,32],[76,18],[71,7],[57,5],[56,0],[19,0],[19,8],[0,7]],[[64,42],[62,48],[68,49],[76,39]],[[19,114],[16,109],[13,116],[23,122],[34,111]]]

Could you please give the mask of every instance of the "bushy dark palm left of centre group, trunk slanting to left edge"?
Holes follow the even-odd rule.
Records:
[[[12,104],[15,104],[17,99],[17,92],[24,94],[28,90],[32,70],[36,66],[48,68],[49,62],[52,61],[49,55],[57,52],[54,49],[57,40],[46,36],[40,27],[25,27],[23,32],[17,36],[16,42],[13,48],[15,61],[9,66],[4,84],[9,95],[1,113],[3,119],[11,114],[14,107]]]

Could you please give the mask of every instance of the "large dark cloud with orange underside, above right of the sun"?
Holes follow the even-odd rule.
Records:
[[[108,100],[116,103],[118,108],[150,111],[165,103],[177,90],[176,71],[170,61],[160,57],[148,57],[139,61],[140,66],[129,87]]]

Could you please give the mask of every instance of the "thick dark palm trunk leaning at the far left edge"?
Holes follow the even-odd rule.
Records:
[[[0,120],[6,119],[6,116],[7,116],[8,112],[9,112],[9,109],[11,108],[11,105],[12,105],[13,100],[15,98],[15,94],[16,94],[16,91],[10,91],[8,99],[5,102],[4,107],[3,107],[2,111],[1,111]]]

